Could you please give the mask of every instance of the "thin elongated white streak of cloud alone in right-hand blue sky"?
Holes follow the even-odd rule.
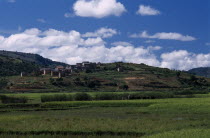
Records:
[[[143,31],[140,34],[132,34],[130,35],[132,38],[150,38],[150,39],[165,39],[165,40],[178,40],[178,41],[194,41],[195,37],[189,35],[182,35],[180,33],[156,33],[154,35],[149,35],[147,31]]]

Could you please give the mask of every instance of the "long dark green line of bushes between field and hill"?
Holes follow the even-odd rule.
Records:
[[[208,91],[181,90],[174,92],[138,92],[138,93],[88,93],[42,95],[41,102],[51,101],[91,101],[91,100],[137,100],[164,98],[192,98],[194,94],[208,94]]]

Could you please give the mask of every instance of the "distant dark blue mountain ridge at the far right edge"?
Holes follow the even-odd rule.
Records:
[[[210,78],[210,67],[194,68],[188,71],[189,73]]]

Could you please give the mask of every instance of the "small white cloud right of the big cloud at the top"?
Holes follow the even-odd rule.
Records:
[[[151,15],[159,15],[161,14],[160,11],[145,5],[139,5],[139,10],[136,12],[142,16],[151,16]]]

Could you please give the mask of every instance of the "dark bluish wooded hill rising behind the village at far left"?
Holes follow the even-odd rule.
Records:
[[[0,76],[19,75],[21,72],[35,73],[41,67],[57,65],[66,66],[64,63],[55,62],[37,54],[0,51]]]

